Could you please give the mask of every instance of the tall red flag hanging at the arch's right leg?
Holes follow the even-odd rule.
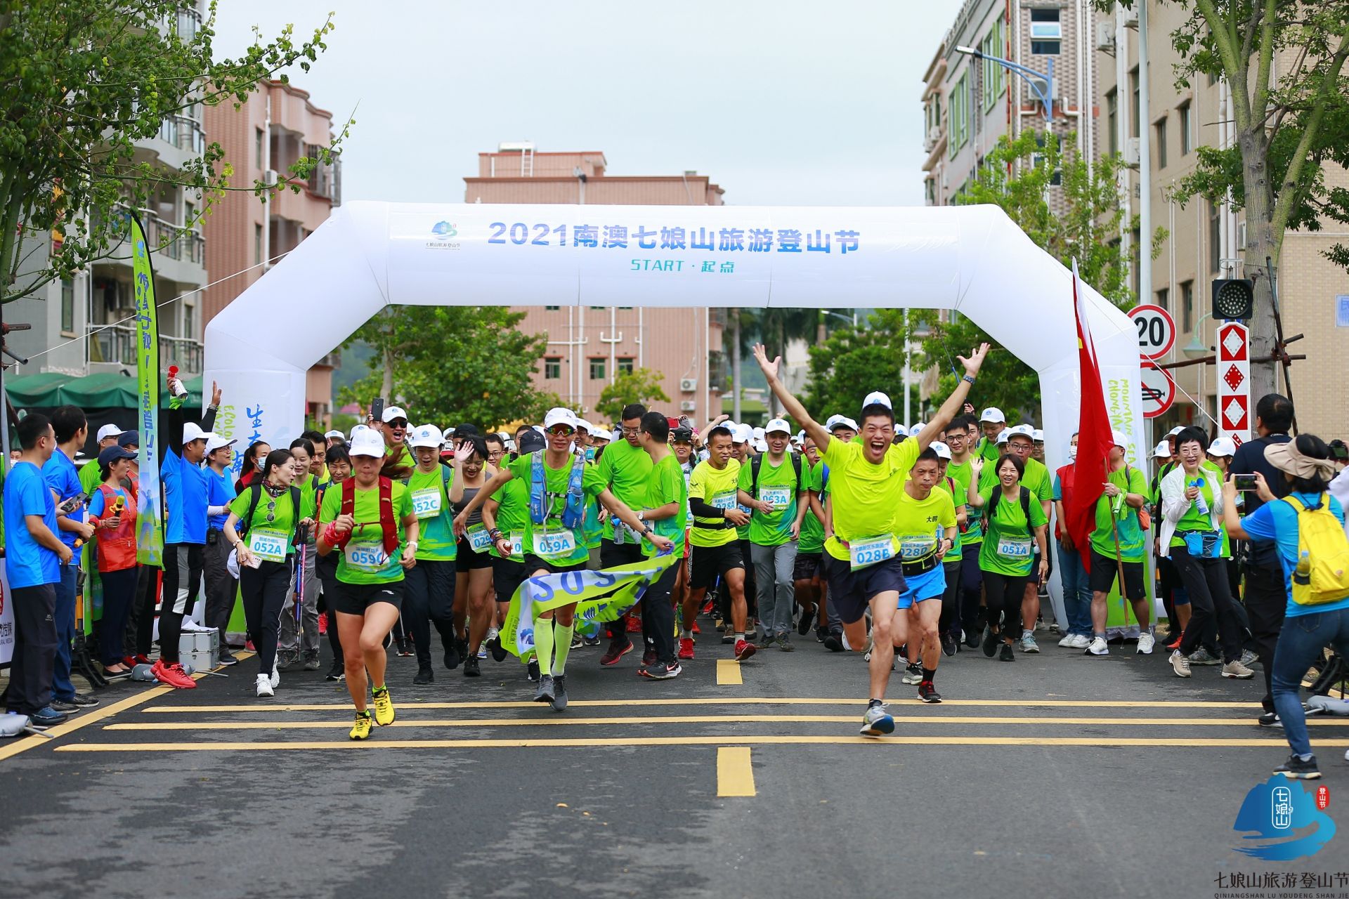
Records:
[[[1078,322],[1078,368],[1082,403],[1078,412],[1078,458],[1074,464],[1072,491],[1064,497],[1067,515],[1064,531],[1072,538],[1082,563],[1091,569],[1091,531],[1095,528],[1095,505],[1105,487],[1110,447],[1110,415],[1105,410],[1101,368],[1097,364],[1091,328],[1087,325],[1086,302],[1078,287],[1078,263],[1072,260],[1072,314]]]

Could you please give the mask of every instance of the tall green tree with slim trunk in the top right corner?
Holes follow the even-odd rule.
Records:
[[[1101,8],[1113,0],[1097,0]],[[1133,5],[1133,0],[1125,0]],[[1290,228],[1322,230],[1349,224],[1349,189],[1327,185],[1327,168],[1349,166],[1349,0],[1193,0],[1171,32],[1180,54],[1176,85],[1222,78],[1232,97],[1236,139],[1226,150],[1198,148],[1195,171],[1178,198],[1230,201],[1246,213],[1245,275],[1256,282],[1251,321],[1252,395],[1275,390],[1273,292],[1265,257],[1278,274]],[[1278,73],[1278,77],[1275,74]],[[1349,267],[1349,248],[1326,256]]]

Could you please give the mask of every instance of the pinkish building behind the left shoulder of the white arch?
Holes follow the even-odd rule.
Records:
[[[225,102],[206,109],[206,128],[233,166],[233,186],[285,181],[301,156],[314,158],[332,140],[332,113],[309,94],[281,81],[264,81],[235,109]],[[281,190],[266,204],[247,190],[219,199],[206,217],[206,266],[219,282],[205,292],[201,325],[244,292],[279,256],[294,249],[341,204],[341,166],[318,166],[299,193]],[[247,270],[247,271],[246,271]],[[221,280],[227,275],[243,272]],[[305,416],[326,421],[332,412],[336,350],[309,369]]]

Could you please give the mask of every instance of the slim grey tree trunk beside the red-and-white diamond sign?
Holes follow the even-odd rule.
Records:
[[[1269,216],[1273,210],[1273,191],[1269,185],[1267,140],[1261,132],[1241,132],[1237,136],[1241,148],[1242,179],[1246,191],[1246,245],[1245,276],[1255,279],[1255,311],[1251,318],[1251,406],[1265,394],[1278,392],[1275,364],[1268,361],[1275,344],[1273,292],[1269,272],[1265,271],[1268,256],[1278,272],[1282,235],[1276,240]],[[1210,301],[1211,302],[1211,301]],[[1267,361],[1256,361],[1256,360]],[[1252,421],[1252,425],[1255,422]]]

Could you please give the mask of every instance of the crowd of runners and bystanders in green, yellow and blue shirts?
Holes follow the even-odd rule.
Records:
[[[1292,748],[1280,771],[1318,776],[1298,690],[1323,647],[1349,654],[1349,581],[1340,590],[1340,549],[1321,527],[1333,520],[1344,542],[1344,443],[1290,438],[1292,404],[1279,395],[1259,402],[1257,438],[1240,449],[1178,427],[1140,454],[1116,433],[1090,547],[1078,547],[1060,524],[1082,477],[1071,461],[1077,435],[1051,435],[1070,460],[1051,472],[1043,431],[973,406],[986,353],[982,345],[959,357],[954,392],[912,427],[878,391],[817,421],[757,346],[784,411],[762,429],[724,415],[697,427],[630,404],[612,430],[553,408],[500,434],[414,426],[390,406],[349,434],[255,442],[237,478],[233,441],[210,433],[213,390],[201,425],[175,410],[162,431],[162,570],[136,562],[139,437],[100,429],[97,460],[77,473],[84,414],[28,415],[4,497],[19,638],[7,708],[45,726],[97,704],[70,681],[71,559],[85,542],[103,585],[104,677],[148,664],[161,683],[193,689],[181,633],[225,635],[237,601],[258,697],[275,695],[287,670],[318,670],[326,631],[326,677],[351,693],[353,740],[397,717],[390,652],[415,656],[414,685],[441,669],[480,677],[488,659],[500,664],[517,650],[502,628],[532,584],[661,559],[603,639],[583,627],[576,604],[538,613],[533,647],[514,659],[534,701],[565,709],[572,652],[602,644],[587,664],[619,666],[638,650],[635,671],[652,681],[677,678],[695,659],[762,660],[817,644],[866,660],[861,733],[878,737],[894,729],[892,673],[917,700],[940,702],[943,658],[1014,662],[1040,652],[1048,632],[1059,650],[1091,656],[1149,655],[1160,643],[1182,678],[1197,666],[1233,679],[1259,669],[1259,724],[1284,728]],[[1143,456],[1151,473],[1126,461]],[[77,495],[88,501],[71,504]],[[1148,554],[1164,633],[1148,600]],[[1047,598],[1054,567],[1062,601]],[[1126,620],[1108,627],[1113,590]],[[1307,590],[1321,592],[1304,601]],[[40,620],[47,609],[51,627]],[[1284,628],[1286,616],[1322,627],[1307,636],[1307,627]],[[228,644],[220,662],[239,662]]]

